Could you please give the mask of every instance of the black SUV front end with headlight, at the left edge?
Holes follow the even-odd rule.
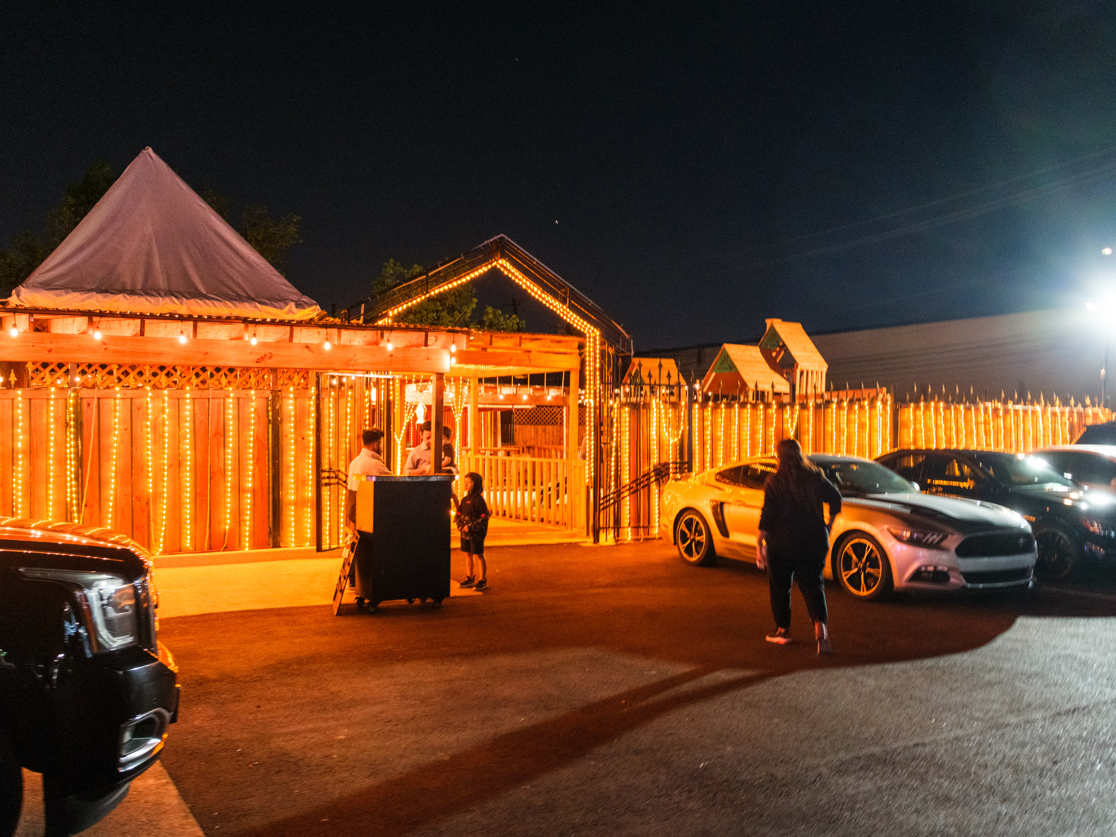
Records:
[[[0,836],[22,773],[42,773],[47,835],[88,828],[155,763],[179,710],[151,560],[129,538],[0,518]]]

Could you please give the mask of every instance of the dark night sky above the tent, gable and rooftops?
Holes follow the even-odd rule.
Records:
[[[107,6],[0,6],[0,241],[151,145],[327,308],[502,232],[643,348],[1080,305],[1116,244],[1101,2]]]

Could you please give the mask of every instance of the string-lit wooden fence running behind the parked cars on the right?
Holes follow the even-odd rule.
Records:
[[[1108,410],[1057,402],[895,403],[886,394],[798,404],[627,398],[613,416],[604,465],[615,488],[600,527],[620,540],[658,537],[662,481],[654,472],[665,473],[663,463],[676,463],[674,473],[704,471],[770,455],[791,437],[807,453],[866,459],[896,448],[1024,453],[1070,444],[1087,425],[1113,420]]]

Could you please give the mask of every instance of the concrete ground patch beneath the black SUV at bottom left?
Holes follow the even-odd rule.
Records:
[[[173,727],[171,728],[173,731]],[[42,777],[23,771],[23,816],[13,837],[42,837]],[[179,789],[156,761],[132,782],[116,810],[85,831],[86,837],[202,837],[202,829]]]

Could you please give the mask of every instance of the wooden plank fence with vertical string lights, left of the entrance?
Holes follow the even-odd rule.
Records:
[[[311,545],[311,404],[306,389],[2,391],[0,514],[104,526],[155,554],[269,547],[272,533]]]

